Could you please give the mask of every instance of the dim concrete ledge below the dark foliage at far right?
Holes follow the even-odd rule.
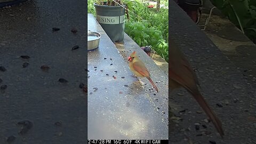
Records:
[[[203,14],[207,17],[207,14]],[[256,46],[227,18],[212,15],[204,33],[234,63],[247,84],[256,86]]]

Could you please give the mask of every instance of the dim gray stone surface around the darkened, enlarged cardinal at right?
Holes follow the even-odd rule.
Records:
[[[216,143],[255,143],[255,87],[246,83],[233,63],[172,1],[169,10],[170,38],[174,39],[191,65],[197,69],[201,92],[222,121],[225,132],[224,138],[221,139],[212,123],[205,123],[206,115],[196,113],[201,108],[191,95],[179,90],[171,93],[169,100],[175,103],[172,107],[173,113],[183,120],[170,121],[169,141],[186,143],[190,140],[193,143],[209,143],[209,140],[214,140]],[[223,107],[218,107],[217,103],[221,103]],[[179,113],[181,110],[185,112]],[[200,126],[200,130],[196,131],[195,123],[205,124],[207,128]],[[196,136],[206,131],[208,135]]]

